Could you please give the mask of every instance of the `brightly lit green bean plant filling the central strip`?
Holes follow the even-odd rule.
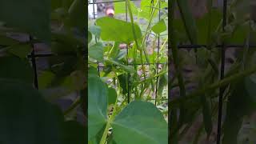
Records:
[[[118,2],[118,15],[89,27],[88,143],[168,142],[167,110],[159,110],[167,96],[166,7],[160,0],[142,0],[140,8]],[[126,11],[128,22],[119,19]]]

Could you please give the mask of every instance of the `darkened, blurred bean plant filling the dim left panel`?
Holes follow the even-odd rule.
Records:
[[[0,143],[86,143],[86,21],[83,0],[0,2]]]

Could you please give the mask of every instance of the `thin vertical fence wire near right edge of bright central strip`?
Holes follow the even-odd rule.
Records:
[[[161,2],[159,2],[159,12],[158,12],[158,21],[160,22],[161,20]],[[158,34],[158,58],[159,59],[159,50],[160,50],[160,34]],[[159,64],[158,62],[156,63],[156,72],[158,74],[158,67],[159,67]],[[156,82],[156,85],[155,85],[155,100],[154,100],[154,105],[156,106],[157,105],[157,99],[158,99],[158,79],[159,77],[157,77],[157,82]]]

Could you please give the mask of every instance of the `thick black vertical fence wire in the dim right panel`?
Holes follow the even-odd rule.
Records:
[[[222,23],[222,31],[225,32],[226,26],[226,9],[227,9],[227,1],[223,0],[223,23]],[[225,73],[225,54],[226,46],[225,42],[222,42],[222,59],[221,59],[221,79],[224,78]],[[217,133],[217,144],[220,144],[222,137],[222,105],[223,105],[223,94],[225,92],[224,87],[220,87],[219,89],[219,99],[218,99],[218,133]]]

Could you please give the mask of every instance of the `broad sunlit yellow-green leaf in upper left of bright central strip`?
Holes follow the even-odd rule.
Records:
[[[134,41],[132,24],[122,20],[103,17],[96,20],[97,26],[102,29],[101,38],[104,41],[116,41],[130,43]],[[136,38],[142,38],[142,32],[137,24],[134,24]]]

